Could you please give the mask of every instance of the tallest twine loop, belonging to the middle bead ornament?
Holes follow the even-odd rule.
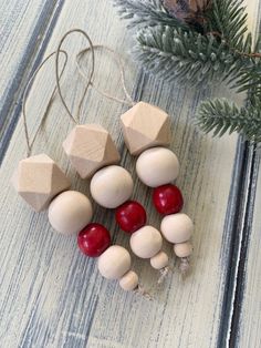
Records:
[[[63,94],[62,94],[62,90],[61,90],[61,84],[60,84],[60,79],[59,79],[59,58],[60,58],[60,53],[61,53],[61,48],[62,48],[62,44],[64,42],[64,40],[67,38],[67,35],[70,35],[71,33],[73,32],[79,32],[81,34],[83,34],[85,37],[85,39],[88,41],[88,44],[90,44],[90,48],[88,50],[91,50],[91,55],[92,55],[92,66],[91,66],[91,74],[90,76],[86,79],[87,80],[87,84],[85,86],[85,90],[84,90],[84,93],[81,98],[81,101],[80,101],[80,104],[79,104],[79,111],[76,113],[76,116],[74,116],[72,114],[72,112],[70,111],[66,102],[65,102],[65,99],[63,98]],[[71,120],[79,124],[80,123],[80,111],[82,109],[82,104],[83,104],[83,101],[85,99],[85,95],[87,93],[87,90],[92,83],[92,79],[93,79],[93,75],[94,75],[94,66],[95,66],[95,55],[94,55],[94,48],[93,48],[93,42],[91,40],[91,38],[88,37],[88,34],[82,30],[82,29],[71,29],[69,30],[63,37],[62,39],[60,40],[59,42],[59,47],[58,47],[58,50],[56,50],[56,57],[55,57],[55,79],[56,79],[56,86],[58,86],[58,93],[59,93],[59,96],[63,103],[63,106],[65,108],[69,116],[71,117]],[[86,78],[86,76],[85,76]]]

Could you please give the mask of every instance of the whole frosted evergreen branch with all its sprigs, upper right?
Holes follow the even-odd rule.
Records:
[[[173,17],[161,0],[114,2],[136,30],[134,54],[146,70],[190,84],[221,79],[237,92],[247,92],[243,108],[225,99],[202,102],[197,117],[205,132],[237,131],[261,142],[261,37],[253,44],[252,34],[246,35],[242,0],[212,0],[199,25]]]

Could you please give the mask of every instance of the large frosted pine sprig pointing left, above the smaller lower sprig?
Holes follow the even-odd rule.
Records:
[[[197,84],[238,72],[241,57],[213,35],[182,31],[166,25],[146,28],[137,34],[136,60],[167,81]],[[236,69],[237,68],[237,69]]]

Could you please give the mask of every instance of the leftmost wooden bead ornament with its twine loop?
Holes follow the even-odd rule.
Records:
[[[61,52],[65,54],[67,60],[66,52]],[[56,232],[64,235],[79,233],[77,242],[80,249],[90,257],[98,257],[98,269],[102,276],[117,278],[124,290],[137,290],[140,293],[138,276],[130,270],[129,253],[121,246],[111,246],[111,236],[104,226],[90,224],[93,215],[90,199],[80,192],[69,191],[71,185],[70,180],[46,154],[31,155],[43,120],[33,140],[30,141],[25,116],[25,101],[29,85],[46,60],[54,53],[51,53],[38,68],[24,91],[22,115],[28,157],[20,161],[12,177],[12,183],[17,192],[34,211],[40,212],[48,208],[50,224]],[[58,76],[59,80],[60,78],[61,75]],[[54,92],[55,90],[51,99],[53,99]],[[44,116],[46,116],[46,113]]]

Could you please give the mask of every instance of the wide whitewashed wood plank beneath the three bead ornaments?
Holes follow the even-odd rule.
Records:
[[[184,192],[185,212],[196,225],[192,273],[186,282],[181,282],[173,260],[175,273],[158,288],[155,285],[157,273],[148,262],[133,256],[133,268],[144,285],[150,288],[153,301],[126,294],[116,282],[103,279],[96,262],[80,254],[75,238],[53,233],[46,214],[33,213],[10,187],[10,175],[25,153],[20,121],[1,167],[0,346],[217,347],[228,285],[227,270],[231,266],[231,236],[225,226],[228,228],[226,213],[233,160],[239,160],[236,156],[237,136],[217,140],[202,135],[191,121],[201,99],[211,93],[226,95],[229,92],[223,86],[194,91],[177,84],[165,84],[144,74],[126,54],[133,42],[125,23],[119,22],[106,0],[100,0],[95,6],[92,0],[65,1],[48,40],[46,53],[53,51],[62,33],[73,27],[87,30],[94,42],[106,43],[121,52],[127,66],[126,80],[135,99],[154,103],[171,115],[170,146],[181,165],[177,184]],[[84,38],[73,35],[64,47],[75,54],[85,44]],[[35,80],[30,93],[30,132],[35,131],[40,122],[36,116],[43,114],[52,94],[54,79],[51,63],[49,69],[45,68]],[[98,54],[96,69],[95,80],[100,88],[116,91],[123,98],[119,74],[111,58]],[[74,112],[83,85],[72,64],[65,73],[62,89]],[[158,227],[160,217],[152,208],[150,191],[137,181],[134,160],[124,147],[119,115],[126,108],[92,91],[83,110],[83,122],[100,122],[111,130],[122,154],[122,164],[135,178],[134,198],[147,207],[150,224]],[[88,183],[79,178],[62,150],[62,142],[72,127],[56,99],[50,108],[34,153],[46,152],[72,178],[73,188],[87,193]],[[129,249],[128,237],[118,233],[113,212],[96,207],[94,219],[109,228],[115,243]],[[166,243],[164,249],[173,255],[169,244]],[[246,307],[246,316],[248,313],[251,313],[251,307]],[[251,331],[249,326],[244,341],[251,339],[255,331]]]

